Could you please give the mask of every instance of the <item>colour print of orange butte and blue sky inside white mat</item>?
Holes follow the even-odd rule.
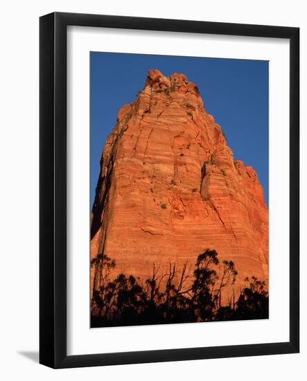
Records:
[[[91,51],[90,327],[269,318],[269,62]]]

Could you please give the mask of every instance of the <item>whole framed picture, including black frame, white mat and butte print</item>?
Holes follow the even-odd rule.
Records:
[[[40,18],[40,363],[299,352],[299,28]]]

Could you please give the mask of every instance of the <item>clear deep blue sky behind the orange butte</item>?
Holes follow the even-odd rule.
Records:
[[[184,73],[198,85],[204,108],[225,132],[234,159],[258,173],[268,204],[267,61],[91,52],[90,65],[91,205],[107,135],[121,106],[143,89],[149,69],[164,76]]]

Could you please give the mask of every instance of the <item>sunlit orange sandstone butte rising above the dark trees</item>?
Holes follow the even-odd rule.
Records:
[[[233,260],[238,276],[268,281],[268,210],[255,170],[234,160],[198,87],[184,74],[150,70],[138,99],[121,107],[100,159],[91,214],[91,258],[114,274],[146,279],[152,265],[179,269],[204,249]],[[91,293],[99,274],[91,268]]]

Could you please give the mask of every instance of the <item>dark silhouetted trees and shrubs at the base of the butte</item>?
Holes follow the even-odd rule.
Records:
[[[182,269],[169,263],[166,273],[154,263],[144,282],[125,274],[111,280],[116,263],[106,255],[98,255],[91,265],[99,270],[100,284],[91,299],[91,327],[268,318],[266,285],[254,276],[245,279],[238,299],[233,291],[222,302],[222,292],[229,294],[238,272],[231,260],[220,263],[215,250],[198,256],[192,274],[187,263]]]

